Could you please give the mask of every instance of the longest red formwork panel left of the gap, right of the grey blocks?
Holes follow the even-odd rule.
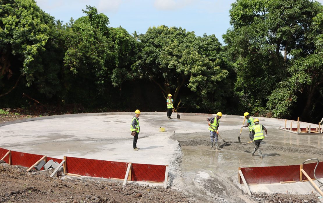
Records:
[[[127,167],[125,162],[66,157],[66,171],[83,176],[124,179]]]

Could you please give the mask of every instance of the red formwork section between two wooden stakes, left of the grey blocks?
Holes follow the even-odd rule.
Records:
[[[11,151],[11,163],[12,165],[30,167],[34,163],[36,163],[39,159],[41,159],[43,156],[44,155]]]

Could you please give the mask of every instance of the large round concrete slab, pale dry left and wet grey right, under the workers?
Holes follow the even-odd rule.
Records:
[[[309,158],[323,160],[323,135],[297,135],[279,130],[284,120],[260,118],[268,137],[258,153],[251,156],[253,143],[238,143],[242,116],[222,117],[219,134],[221,150],[210,147],[210,131],[205,116],[185,116],[168,120],[166,113],[142,113],[141,132],[132,150],[130,115],[94,115],[44,119],[0,127],[0,147],[55,158],[82,157],[109,161],[170,165],[169,184],[205,201],[253,202],[237,184],[238,167],[300,164]],[[301,127],[307,126],[301,123]],[[315,126],[314,124],[310,124]],[[165,132],[160,132],[160,127]],[[241,142],[249,142],[243,128]],[[256,191],[257,189],[254,188]],[[274,189],[271,189],[274,191]],[[233,198],[234,196],[234,198]]]

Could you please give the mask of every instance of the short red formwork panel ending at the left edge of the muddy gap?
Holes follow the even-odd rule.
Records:
[[[166,166],[163,165],[132,163],[131,180],[163,182],[165,171]]]

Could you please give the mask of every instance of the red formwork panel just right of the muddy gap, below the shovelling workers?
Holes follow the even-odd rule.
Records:
[[[245,167],[241,172],[247,183],[279,183],[280,181],[299,181],[300,165]],[[243,183],[240,179],[240,183]]]

